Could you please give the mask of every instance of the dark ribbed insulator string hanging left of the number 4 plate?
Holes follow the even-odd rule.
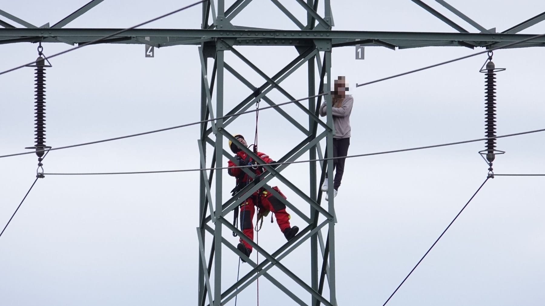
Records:
[[[36,136],[34,146],[29,146],[25,149],[35,149],[36,155],[38,156],[38,169],[36,169],[36,177],[43,179],[44,176],[44,165],[41,163],[43,161],[44,152],[46,149],[51,149],[51,146],[45,145],[45,68],[51,67],[51,63],[44,56],[44,47],[41,46],[41,42],[38,46],[38,59],[34,65],[28,65],[28,67],[35,67],[36,72],[34,73],[35,80],[35,101],[34,101],[34,111],[36,114],[34,118],[34,136]],[[47,65],[45,64],[47,62]]]

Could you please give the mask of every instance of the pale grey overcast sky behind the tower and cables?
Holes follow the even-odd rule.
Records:
[[[230,5],[233,1],[226,1]],[[3,1],[0,9],[41,26],[87,3]],[[126,28],[187,5],[187,1],[105,1],[66,28]],[[305,21],[296,3],[282,3]],[[476,32],[433,1],[429,5]],[[545,10],[541,1],[450,1],[486,28],[498,32]],[[335,28],[454,32],[411,1],[332,1]],[[146,28],[199,28],[201,9],[192,8]],[[234,25],[294,29],[274,4],[253,1]],[[545,23],[522,33],[545,32]],[[37,45],[0,46],[0,70],[30,62]],[[69,48],[44,44],[44,53]],[[269,75],[296,57],[290,47],[237,47]],[[141,45],[95,45],[51,59],[47,70],[47,144],[63,146],[154,130],[199,120],[200,65],[197,47],[155,49]],[[365,87],[356,83],[435,64],[481,50],[427,47],[392,51],[367,47],[355,60],[353,47],[332,53],[332,75],[347,76],[354,96],[349,154],[410,148],[484,136],[486,55]],[[498,74],[498,134],[544,128],[542,48],[494,52]],[[254,85],[264,80],[226,52],[226,62]],[[250,90],[226,72],[225,109]],[[318,82],[317,78],[317,82]],[[282,83],[296,98],[307,96],[306,65]],[[0,76],[0,155],[25,151],[34,141],[33,70]],[[278,91],[268,95],[286,102]],[[307,122],[293,106],[283,107]],[[228,131],[247,139],[255,115]],[[51,152],[46,172],[116,172],[198,168],[198,126]],[[259,150],[272,158],[304,135],[272,110],[259,115]],[[251,140],[250,140],[251,142]],[[323,145],[324,143],[322,143]],[[226,144],[225,144],[226,145]],[[545,173],[543,134],[503,138],[507,151],[495,173]],[[486,178],[477,154],[484,143],[351,158],[335,198],[337,301],[339,305],[382,305]],[[300,158],[306,160],[307,155]],[[224,163],[226,161],[224,160]],[[34,180],[37,157],[0,159],[0,225],[9,220]],[[308,191],[308,165],[283,174]],[[34,186],[0,237],[0,305],[193,305],[197,299],[199,173],[47,176]],[[234,179],[224,174],[224,199]],[[451,229],[415,270],[389,305],[541,305],[545,267],[545,191],[542,178],[489,180]],[[274,180],[303,212],[308,206]],[[292,224],[303,221],[292,214]],[[224,229],[232,243],[237,239]],[[259,244],[275,250],[285,241],[268,220]],[[211,239],[209,238],[208,241]],[[310,244],[282,260],[310,280]],[[238,258],[224,247],[223,289],[237,278]],[[255,252],[252,258],[255,259]],[[259,257],[263,260],[263,256]],[[232,265],[230,265],[232,264]],[[240,272],[250,267],[241,265]],[[276,268],[282,283],[310,303],[310,295]],[[261,305],[293,302],[260,278]],[[252,285],[239,305],[256,304]],[[234,305],[234,301],[229,302]]]

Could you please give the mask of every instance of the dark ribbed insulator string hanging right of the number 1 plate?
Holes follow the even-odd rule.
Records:
[[[492,56],[494,52],[488,52],[488,59],[485,64],[482,65],[479,72],[485,74],[485,89],[486,89],[486,116],[485,116],[485,136],[487,138],[496,137],[496,72],[504,71],[505,68],[495,68],[494,63],[492,62]],[[486,69],[485,68],[486,65]],[[494,178],[494,169],[492,168],[492,162],[494,161],[496,155],[504,154],[505,151],[496,150],[496,139],[487,139],[486,140],[486,150],[479,151],[481,157],[485,159],[485,162],[488,164],[488,177]]]

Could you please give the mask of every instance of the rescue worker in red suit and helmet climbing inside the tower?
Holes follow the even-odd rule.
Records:
[[[255,161],[252,160],[252,158],[246,154],[243,150],[240,149],[240,146],[245,146],[246,148],[248,145],[246,144],[246,140],[244,140],[244,137],[240,134],[234,135],[234,137],[239,141],[238,143],[232,143],[231,140],[229,140],[229,148],[231,148],[231,151],[235,154],[235,158],[237,160],[237,163],[234,163],[229,160],[228,162],[228,169],[227,172],[229,175],[234,176],[237,178],[237,185],[233,189],[233,194],[239,192],[241,189],[243,189],[246,185],[251,183],[252,178],[247,175],[241,168],[231,168],[231,167],[237,167],[237,166],[248,166],[251,164],[256,164]],[[256,154],[261,158],[265,163],[276,163],[274,160],[272,160],[268,155],[257,152]],[[271,166],[275,167],[275,166]],[[265,169],[262,167],[249,167],[253,173],[256,175],[262,174]],[[280,189],[278,187],[272,187],[276,192],[278,192],[284,199],[286,199],[286,196],[282,194]],[[290,216],[286,212],[286,205],[282,203],[279,199],[277,199],[274,195],[270,193],[270,191],[267,191],[264,188],[259,188],[258,191],[254,192],[250,198],[247,198],[243,203],[240,204],[240,229],[244,232],[244,235],[246,235],[248,238],[250,238],[253,241],[253,215],[255,214],[255,207],[258,207],[258,215],[266,216],[269,211],[274,213],[274,216],[276,218],[276,223],[278,223],[278,227],[280,227],[280,230],[283,232],[284,237],[286,239],[292,240],[295,235],[299,232],[298,227],[290,227],[289,219]],[[237,246],[237,249],[240,250],[240,252],[244,253],[246,256],[250,256],[252,253],[252,246],[250,246],[249,243],[244,241],[242,238],[239,239],[240,243]],[[244,259],[243,259],[243,262]]]

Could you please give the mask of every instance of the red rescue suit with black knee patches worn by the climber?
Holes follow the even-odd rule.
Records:
[[[261,158],[266,163],[273,163],[274,160],[271,160],[271,158],[262,153],[257,152],[257,156]],[[244,188],[246,185],[252,182],[252,178],[250,178],[249,175],[247,175],[241,168],[231,168],[231,167],[237,167],[237,166],[245,166],[248,164],[252,164],[253,160],[250,156],[246,154],[244,151],[239,151],[237,155],[235,155],[235,158],[237,158],[237,161],[239,164],[235,164],[232,161],[228,162],[228,170],[227,172],[229,175],[234,176],[237,178],[237,186],[239,186],[240,189]],[[251,169],[251,168],[249,168]],[[262,170],[261,167],[258,167],[257,169],[251,169],[252,172],[255,172],[256,175],[260,175],[263,173],[264,169]],[[286,196],[278,189],[278,187],[272,187],[275,191],[277,191],[284,199],[286,199]],[[257,201],[257,203],[256,203]],[[247,198],[243,203],[240,204],[240,228],[243,230],[244,235],[249,237],[253,241],[253,215],[255,214],[255,206],[258,207],[259,210],[269,210],[274,213],[274,216],[276,218],[276,223],[278,223],[278,227],[280,227],[280,230],[284,232],[284,230],[289,229],[289,214],[286,212],[286,205],[282,203],[279,199],[277,199],[274,195],[270,193],[270,191],[265,190],[264,188],[259,188],[258,191],[254,192],[252,194],[252,197]],[[240,242],[244,243],[244,246],[246,248],[249,248],[250,250],[252,247],[249,243],[244,241],[242,238],[240,238]]]

